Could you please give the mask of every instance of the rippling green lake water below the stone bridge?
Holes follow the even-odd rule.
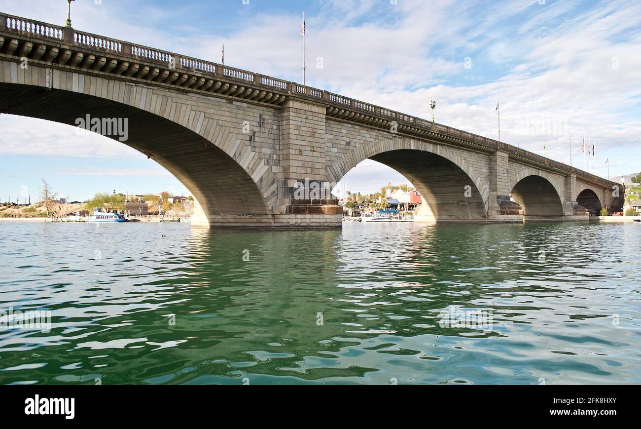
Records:
[[[2,384],[641,383],[639,223],[0,237]]]

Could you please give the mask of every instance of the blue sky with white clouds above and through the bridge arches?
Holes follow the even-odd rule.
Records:
[[[641,1],[76,0],[78,30],[130,40],[431,118],[594,170],[641,171]],[[0,11],[63,25],[67,3],[0,0]],[[1,94],[0,94],[1,96]],[[40,180],[71,200],[98,191],[186,193],[153,160],[74,127],[0,115],[0,200],[37,197]],[[590,143],[592,144],[592,143]],[[608,159],[608,164],[605,163]],[[345,175],[369,193],[403,176],[374,161]],[[338,185],[342,189],[342,183]]]

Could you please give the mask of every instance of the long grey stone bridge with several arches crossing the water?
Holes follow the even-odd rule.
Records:
[[[623,205],[619,184],[510,144],[1,13],[0,113],[87,122],[145,153],[194,195],[194,226],[340,227],[342,209],[328,189],[368,158],[416,186],[424,203],[418,220],[587,220],[576,207]],[[126,133],[115,132],[122,124]],[[510,197],[522,211],[505,206]]]

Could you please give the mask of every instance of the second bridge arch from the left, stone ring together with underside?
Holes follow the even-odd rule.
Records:
[[[419,212],[421,220],[455,222],[487,218],[488,189],[468,161],[469,156],[466,159],[463,153],[435,143],[389,138],[382,136],[383,132],[368,133],[369,143],[365,144],[360,144],[360,139],[356,143],[342,140],[349,139],[349,134],[330,134],[333,137],[330,146],[343,144],[352,150],[334,160],[328,159],[329,180],[337,183],[360,162],[372,159],[398,171],[417,188],[426,203]]]

